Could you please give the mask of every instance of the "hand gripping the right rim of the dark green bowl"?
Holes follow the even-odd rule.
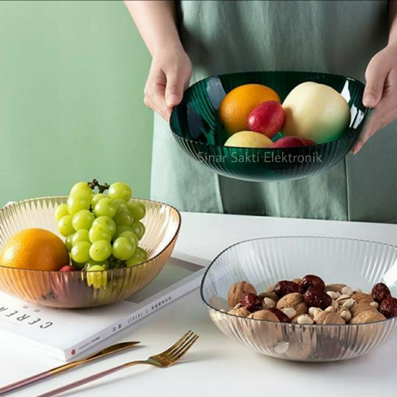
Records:
[[[388,45],[375,54],[365,71],[363,104],[372,108],[351,153],[356,154],[379,129],[397,119],[397,45]]]

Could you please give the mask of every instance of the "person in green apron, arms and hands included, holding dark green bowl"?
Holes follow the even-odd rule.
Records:
[[[396,0],[125,3],[152,55],[144,102],[155,112],[153,199],[197,212],[397,221]],[[372,112],[355,155],[308,178],[257,183],[216,175],[183,154],[168,120],[189,84],[256,70],[365,78]]]

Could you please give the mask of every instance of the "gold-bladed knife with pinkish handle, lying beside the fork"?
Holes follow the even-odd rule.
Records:
[[[50,376],[57,375],[61,372],[67,371],[68,369],[77,367],[78,365],[86,364],[88,362],[97,360],[99,358],[109,356],[110,354],[129,349],[130,347],[132,347],[138,343],[140,343],[140,342],[121,342],[121,343],[113,344],[113,345],[106,347],[103,350],[98,351],[86,358],[82,358],[81,360],[72,361],[70,363],[61,365],[60,367],[56,367],[56,368],[50,369],[48,371],[41,372],[40,374],[30,376],[29,378],[22,379],[15,383],[11,383],[10,385],[0,387],[0,395],[3,395],[5,393],[11,392],[13,390],[22,388],[24,386],[30,385],[30,384],[40,381],[42,379],[49,378]]]

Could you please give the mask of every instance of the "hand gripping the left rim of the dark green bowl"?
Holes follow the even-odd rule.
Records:
[[[159,48],[153,54],[144,89],[144,103],[166,121],[189,86],[192,63],[182,46]]]

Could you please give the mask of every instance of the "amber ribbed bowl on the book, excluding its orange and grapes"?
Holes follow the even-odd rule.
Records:
[[[17,231],[39,227],[58,234],[54,210],[66,197],[20,201],[0,210],[0,250]],[[142,223],[146,233],[140,245],[148,260],[140,265],[106,271],[39,271],[0,266],[0,290],[28,302],[56,308],[108,305],[126,299],[149,284],[165,265],[175,246],[181,224],[172,206],[151,200],[136,200],[146,206]],[[102,277],[94,288],[87,274]],[[95,276],[95,275],[94,275]]]

